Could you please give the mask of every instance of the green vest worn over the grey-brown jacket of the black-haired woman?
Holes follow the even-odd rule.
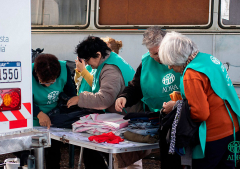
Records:
[[[101,65],[98,66],[98,68],[93,74],[93,84],[92,84],[93,93],[97,93],[100,89],[99,76],[105,64],[117,66],[122,73],[125,86],[128,86],[128,82],[133,79],[135,71],[121,56],[119,56],[114,52],[111,52],[110,56]]]

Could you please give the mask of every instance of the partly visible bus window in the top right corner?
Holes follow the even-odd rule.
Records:
[[[240,27],[240,1],[221,0],[220,26],[222,28]]]

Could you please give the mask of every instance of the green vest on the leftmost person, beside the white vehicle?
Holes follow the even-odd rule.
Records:
[[[32,93],[34,95],[33,104],[37,105],[41,111],[48,113],[57,106],[58,95],[63,92],[63,88],[67,83],[67,68],[65,61],[59,61],[61,66],[60,76],[56,82],[49,87],[41,85],[32,75]],[[32,64],[32,71],[34,63]],[[33,126],[39,126],[38,118],[34,117]]]

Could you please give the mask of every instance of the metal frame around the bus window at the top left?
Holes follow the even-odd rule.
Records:
[[[34,29],[86,29],[90,25],[91,0],[87,0],[86,23],[84,25],[31,25]]]

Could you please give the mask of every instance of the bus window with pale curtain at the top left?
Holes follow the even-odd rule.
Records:
[[[85,27],[89,0],[31,0],[32,28]]]

